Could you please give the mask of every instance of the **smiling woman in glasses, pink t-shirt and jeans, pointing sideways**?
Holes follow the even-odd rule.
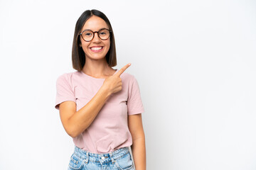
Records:
[[[124,72],[130,64],[112,69],[114,33],[104,13],[87,10],[78,18],[72,62],[77,71],[58,77],[55,103],[75,143],[68,169],[146,169],[139,86]]]

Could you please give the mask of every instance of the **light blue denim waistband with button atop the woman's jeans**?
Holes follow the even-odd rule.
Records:
[[[101,162],[101,163],[112,162],[112,164],[114,164],[115,160],[123,157],[128,152],[129,152],[129,147],[122,147],[113,152],[109,152],[105,154],[95,154],[92,152],[87,152],[86,150],[80,149],[79,147],[76,147],[76,146],[74,150],[75,156],[79,157],[80,159],[84,159],[86,164],[88,162]]]

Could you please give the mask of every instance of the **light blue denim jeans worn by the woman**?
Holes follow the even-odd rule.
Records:
[[[95,154],[76,146],[68,164],[68,170],[74,169],[135,170],[129,147],[123,147],[106,154]]]

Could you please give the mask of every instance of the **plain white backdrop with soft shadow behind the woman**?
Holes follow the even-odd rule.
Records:
[[[55,81],[74,72],[75,23],[112,23],[139,82],[147,169],[256,169],[256,2],[0,1],[0,169],[67,169]]]

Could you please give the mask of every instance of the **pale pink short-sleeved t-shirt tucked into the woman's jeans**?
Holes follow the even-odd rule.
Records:
[[[119,71],[114,73],[116,74]],[[144,112],[137,80],[132,74],[123,72],[122,90],[112,94],[97,114],[92,124],[78,137],[73,137],[75,146],[88,152],[102,154],[132,145],[127,116]],[[63,101],[74,101],[77,111],[85,106],[105,79],[90,77],[84,72],[70,72],[60,75],[56,81],[55,108]]]

